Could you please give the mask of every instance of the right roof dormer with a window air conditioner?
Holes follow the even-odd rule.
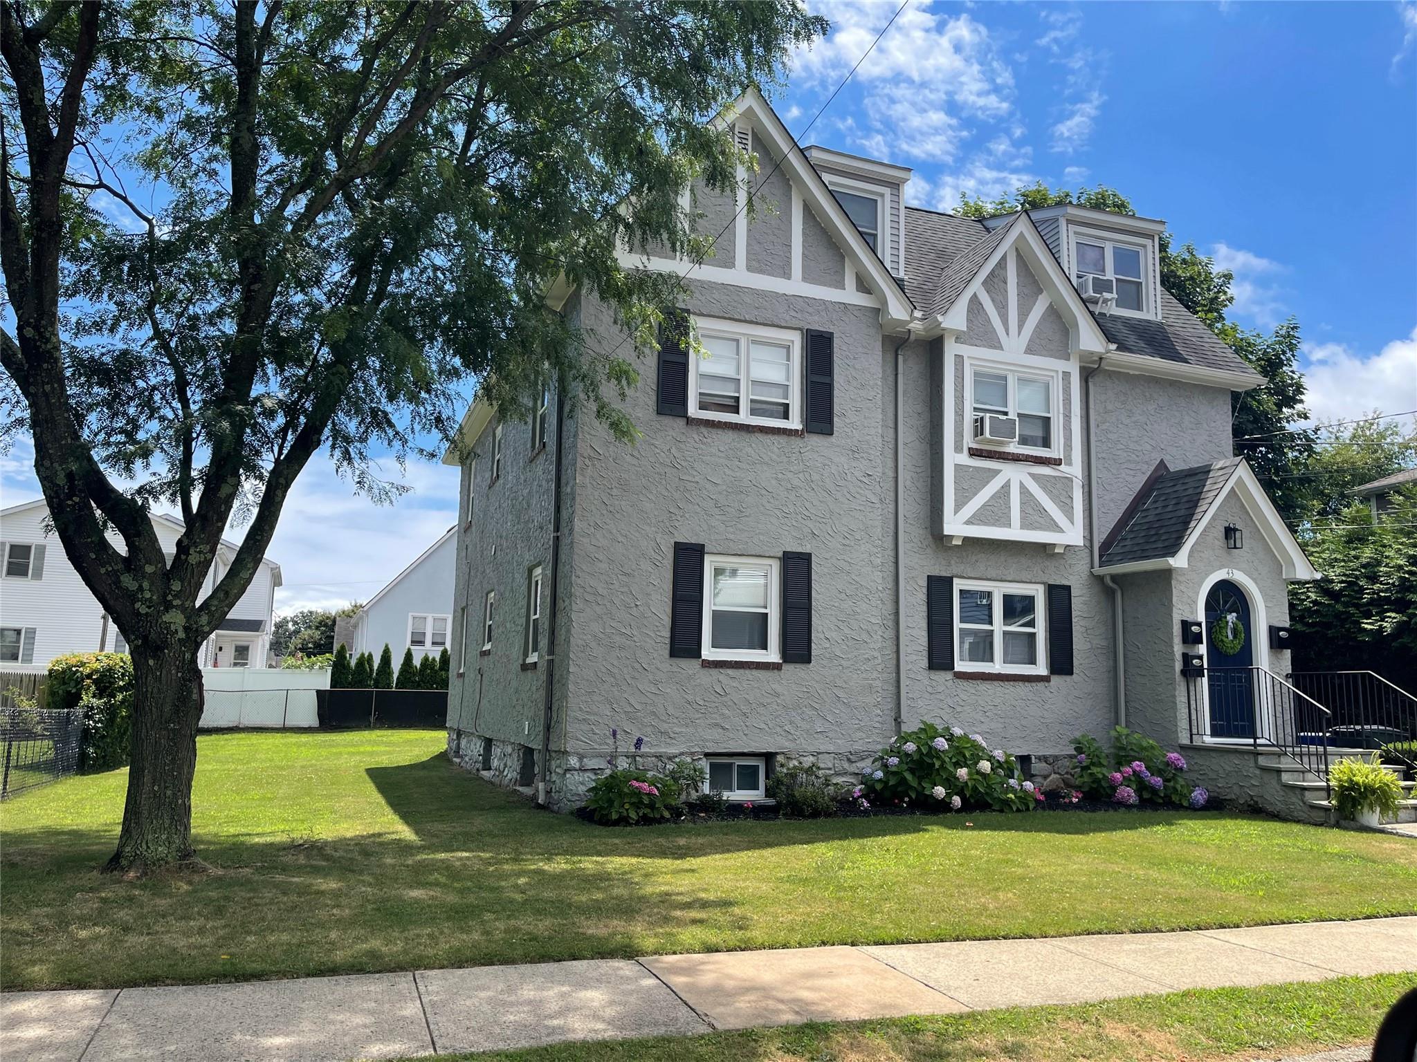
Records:
[[[1015,214],[985,219],[988,228]],[[1162,320],[1161,234],[1166,222],[1063,204],[1029,217],[1095,313]]]

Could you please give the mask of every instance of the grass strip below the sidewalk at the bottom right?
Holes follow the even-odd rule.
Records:
[[[958,1017],[714,1032],[706,1037],[561,1044],[479,1062],[1196,1062],[1299,1055],[1372,1042],[1417,974],[1343,977],[1267,988],[1210,988]]]

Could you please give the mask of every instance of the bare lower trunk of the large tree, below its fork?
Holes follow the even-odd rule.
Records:
[[[146,874],[193,858],[191,779],[203,688],[196,646],[145,639],[130,651],[132,765],[123,828],[106,869]]]

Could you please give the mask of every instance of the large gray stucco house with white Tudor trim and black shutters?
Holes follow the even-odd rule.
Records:
[[[1257,792],[1264,698],[1183,670],[1233,615],[1229,663],[1282,675],[1285,583],[1318,576],[1231,457],[1263,381],[1161,287],[1163,222],[917,210],[910,170],[798,149],[754,92],[723,120],[771,210],[700,187],[714,258],[626,253],[691,290],[626,401],[643,439],[548,389],[530,422],[476,401],[448,453],[451,755],[567,809],[636,738],[752,799],[927,718],[1040,777],[1122,721]]]

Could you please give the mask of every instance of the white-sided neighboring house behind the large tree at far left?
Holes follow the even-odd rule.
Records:
[[[171,555],[183,523],[163,513],[152,517],[163,552]],[[122,548],[116,531],[109,538]],[[235,542],[221,539],[200,596],[211,592],[235,552]],[[203,667],[265,667],[279,585],[281,565],[262,558],[241,600],[203,644]],[[41,667],[65,653],[92,651],[126,653],[128,641],[65,556],[44,498],[0,510],[0,667]]]

